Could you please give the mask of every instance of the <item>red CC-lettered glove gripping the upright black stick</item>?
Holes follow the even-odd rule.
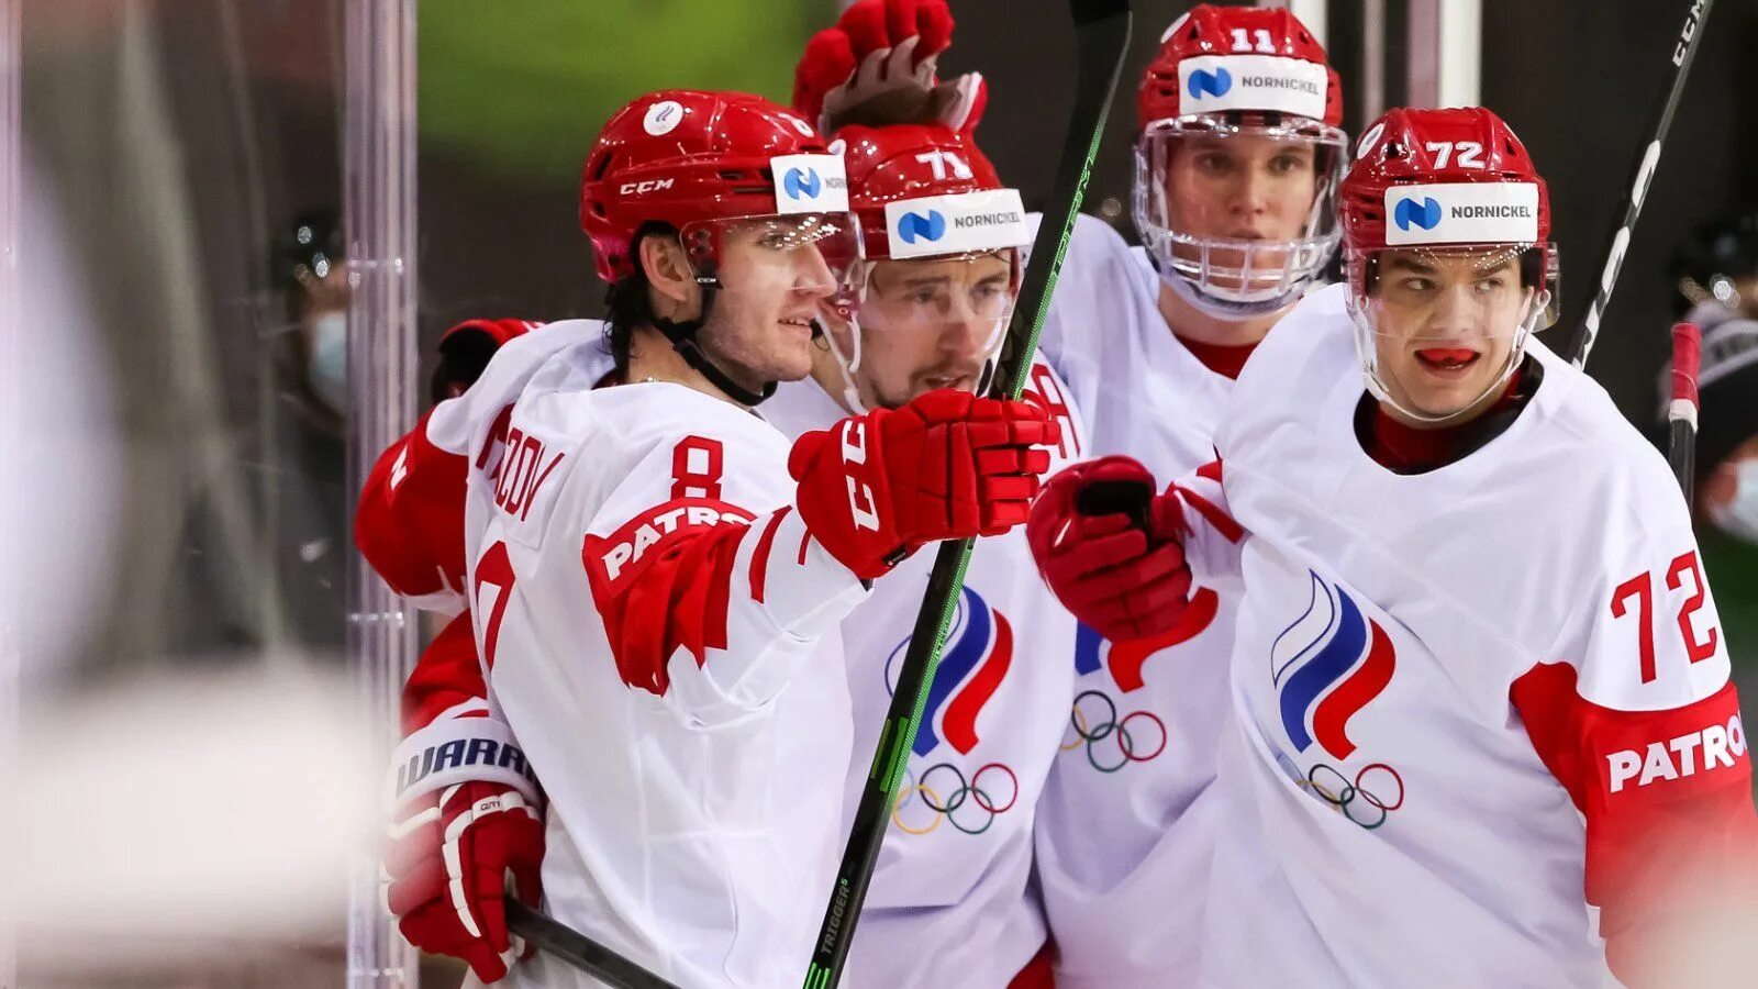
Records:
[[[941,389],[805,433],[788,472],[812,537],[870,581],[923,544],[1023,523],[1060,436],[1035,405]]]

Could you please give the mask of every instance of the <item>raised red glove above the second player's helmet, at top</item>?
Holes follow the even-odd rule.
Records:
[[[974,130],[988,104],[977,72],[941,81],[953,40],[946,0],[858,0],[812,35],[793,74],[793,109],[823,134],[861,123],[944,123]]]

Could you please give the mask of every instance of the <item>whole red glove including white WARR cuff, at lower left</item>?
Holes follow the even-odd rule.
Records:
[[[394,762],[413,773],[464,753],[462,766],[406,785],[387,831],[385,906],[411,945],[464,959],[483,982],[529,956],[508,934],[506,896],[534,906],[543,894],[541,797],[508,769],[524,766],[513,744],[489,718],[443,718],[404,739]]]

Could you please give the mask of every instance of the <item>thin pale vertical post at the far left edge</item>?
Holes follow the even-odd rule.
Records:
[[[19,333],[19,243],[25,216],[19,183],[25,174],[25,118],[19,106],[23,86],[23,16],[25,0],[0,0],[0,459],[19,463],[23,422],[18,408],[18,370],[25,350]],[[0,484],[0,500],[12,496],[11,484]],[[0,519],[16,519],[11,505],[0,505]],[[16,533],[0,535],[0,567],[16,565]],[[11,579],[0,579],[0,595],[11,593]],[[18,846],[12,829],[23,813],[14,808],[18,794],[19,692],[23,656],[19,656],[18,600],[0,597],[0,989],[18,989]]]

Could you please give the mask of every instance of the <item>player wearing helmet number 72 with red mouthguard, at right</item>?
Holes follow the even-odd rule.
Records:
[[[1392,111],[1341,222],[1348,283],[1252,357],[1217,465],[1034,507],[1050,553],[1109,517],[1174,570],[1160,626],[1245,582],[1201,984],[1704,984],[1684,941],[1758,892],[1746,734],[1665,461],[1533,338],[1545,183],[1489,111]]]

